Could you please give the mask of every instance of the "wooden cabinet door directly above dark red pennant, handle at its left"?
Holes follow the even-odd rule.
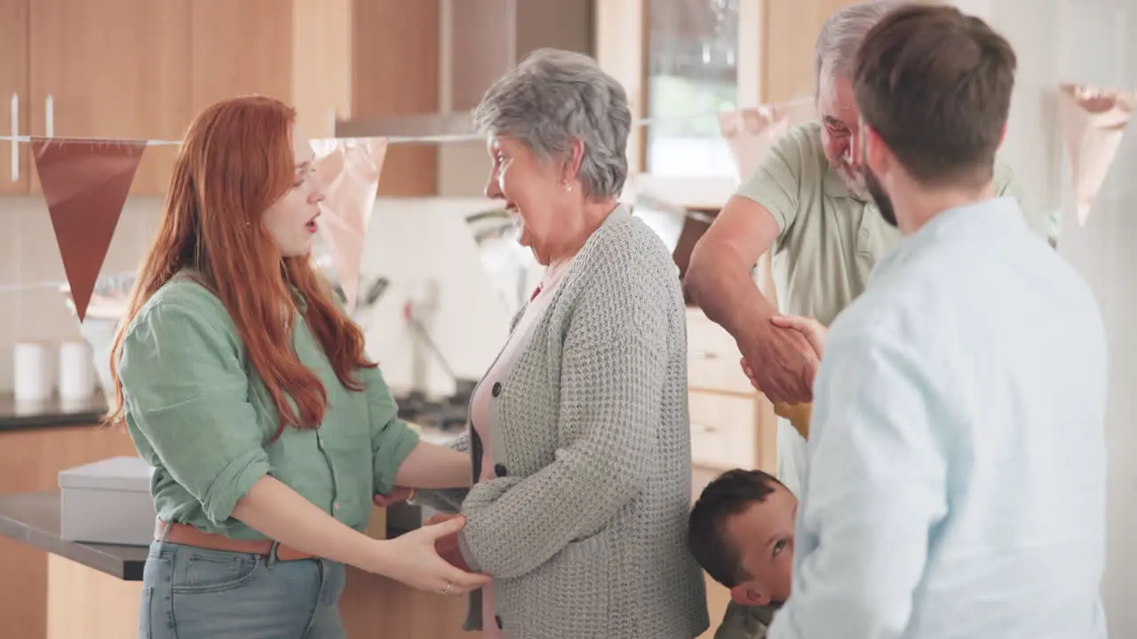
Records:
[[[192,117],[191,2],[32,1],[32,134],[180,140]],[[131,192],[164,194],[176,153],[147,148]]]

